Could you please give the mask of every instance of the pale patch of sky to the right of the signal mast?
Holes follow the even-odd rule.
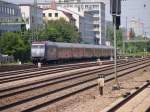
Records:
[[[126,19],[127,18],[127,19]],[[122,25],[131,26],[132,20],[135,20],[136,32],[143,30],[144,34],[150,36],[150,0],[127,0],[122,2]],[[143,23],[143,28],[138,26],[138,23]]]

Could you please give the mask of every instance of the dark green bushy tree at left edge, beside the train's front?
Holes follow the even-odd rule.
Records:
[[[2,54],[13,55],[15,59],[27,60],[29,45],[26,45],[19,33],[6,32],[0,38],[0,48]]]

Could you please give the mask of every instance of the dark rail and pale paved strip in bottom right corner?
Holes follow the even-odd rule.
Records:
[[[135,88],[135,90],[128,92],[123,98],[120,98],[114,103],[113,106],[104,109],[102,112],[149,112],[150,101],[147,99],[150,97],[150,81],[147,80],[141,87]],[[144,106],[143,106],[144,105]]]

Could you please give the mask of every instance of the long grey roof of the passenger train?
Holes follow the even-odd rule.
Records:
[[[113,49],[112,46],[105,46],[105,45],[92,45],[92,44],[79,44],[79,43],[63,43],[63,42],[51,42],[51,41],[45,41],[45,42],[33,42],[33,44],[46,44],[56,47],[74,47],[74,48],[110,48]]]

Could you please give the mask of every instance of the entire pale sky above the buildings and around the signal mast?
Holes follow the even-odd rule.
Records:
[[[12,3],[33,3],[34,0],[4,0]],[[50,0],[37,0],[50,1]],[[56,0],[57,1],[57,0]],[[111,20],[109,0],[100,0],[106,4],[106,19]],[[126,19],[127,18],[127,19]],[[134,18],[135,21],[143,23],[143,31],[150,35],[150,0],[124,0],[122,2],[121,24],[123,27],[129,27],[130,21]],[[139,31],[137,26],[137,31]]]

